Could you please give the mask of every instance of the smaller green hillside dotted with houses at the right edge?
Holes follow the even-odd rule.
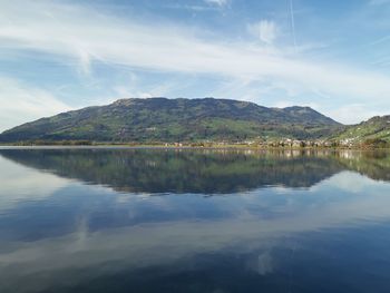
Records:
[[[333,139],[342,144],[384,146],[390,143],[390,115],[376,116],[361,124],[349,126]]]

